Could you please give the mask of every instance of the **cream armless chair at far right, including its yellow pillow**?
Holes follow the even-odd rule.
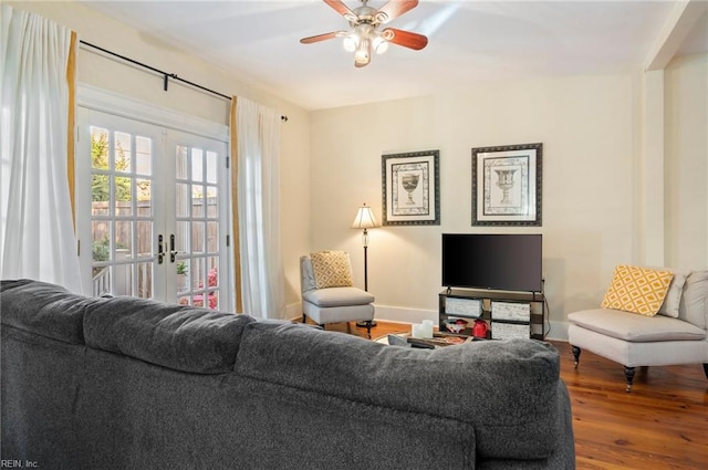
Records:
[[[620,363],[626,391],[639,366],[702,364],[708,377],[708,271],[648,270],[659,274],[646,279],[627,268],[615,270],[601,309],[568,316],[575,368],[582,349]],[[670,273],[668,282],[660,272]],[[668,284],[664,296],[654,283]]]

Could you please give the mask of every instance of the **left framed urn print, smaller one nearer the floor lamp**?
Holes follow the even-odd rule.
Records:
[[[439,226],[439,150],[382,155],[384,226]]]

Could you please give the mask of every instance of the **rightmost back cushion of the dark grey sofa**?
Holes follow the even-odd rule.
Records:
[[[256,322],[235,370],[308,390],[323,404],[334,397],[471,424],[478,451],[490,458],[544,458],[558,438],[559,355],[531,340],[413,349]]]

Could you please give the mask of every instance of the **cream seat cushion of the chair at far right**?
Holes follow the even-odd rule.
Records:
[[[592,309],[574,312],[568,320],[586,330],[634,343],[700,341],[706,331],[669,316],[643,316],[621,310]]]

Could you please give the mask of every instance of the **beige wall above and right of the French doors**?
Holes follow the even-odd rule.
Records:
[[[76,2],[17,2],[13,8],[32,11],[64,24],[79,33],[81,40],[100,45],[127,58],[226,95],[244,96],[277,109],[289,117],[282,126],[281,154],[281,230],[285,271],[287,303],[300,301],[298,255],[309,251],[309,116],[290,103],[261,93],[238,76],[194,55],[179,52],[169,44],[147,38]],[[163,77],[126,65],[82,46],[77,59],[80,83],[140,100],[215,123],[228,124],[230,101],[196,91],[171,81],[163,91]],[[81,181],[77,181],[81,184]],[[299,307],[294,307],[299,310]]]

